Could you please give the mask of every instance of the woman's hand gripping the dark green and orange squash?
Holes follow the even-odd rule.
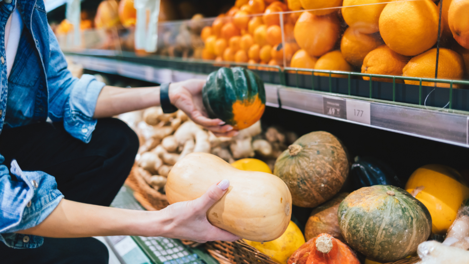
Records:
[[[205,80],[190,79],[183,82],[171,83],[169,99],[177,108],[186,113],[195,123],[203,126],[215,136],[236,136],[238,131],[220,119],[210,119],[202,102],[202,88]]]

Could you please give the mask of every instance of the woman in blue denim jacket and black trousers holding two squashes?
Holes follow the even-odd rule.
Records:
[[[238,239],[205,216],[226,180],[161,211],[108,207],[138,148],[135,133],[109,117],[161,103],[216,135],[237,133],[205,117],[204,81],[121,89],[72,77],[43,0],[0,0],[0,63],[2,263],[107,263],[106,248],[91,236]]]

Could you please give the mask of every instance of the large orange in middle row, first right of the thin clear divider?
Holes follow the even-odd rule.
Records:
[[[319,57],[334,48],[340,35],[337,15],[303,14],[296,21],[294,28],[296,43],[310,55]]]

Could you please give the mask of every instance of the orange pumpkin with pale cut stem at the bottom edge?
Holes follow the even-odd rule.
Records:
[[[288,264],[360,264],[346,244],[330,234],[319,234],[297,249]]]

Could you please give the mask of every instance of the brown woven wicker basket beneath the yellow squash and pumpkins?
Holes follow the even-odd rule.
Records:
[[[234,242],[211,241],[205,243],[205,248],[220,264],[278,264],[242,240]],[[418,261],[420,258],[414,256],[386,264],[414,264]]]

